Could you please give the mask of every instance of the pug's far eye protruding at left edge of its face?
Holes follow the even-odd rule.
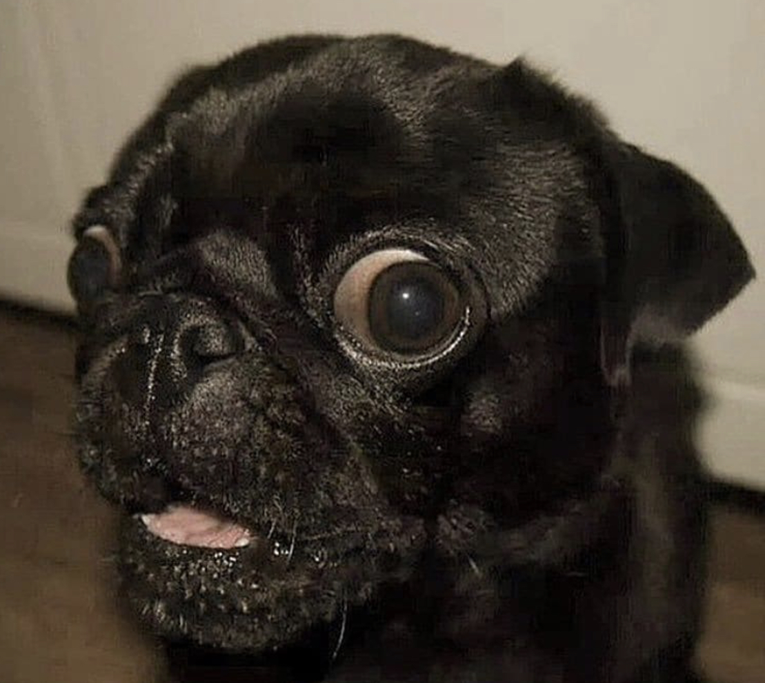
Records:
[[[122,260],[119,247],[103,225],[83,232],[69,259],[67,280],[72,295],[80,303],[90,303],[119,284]]]

